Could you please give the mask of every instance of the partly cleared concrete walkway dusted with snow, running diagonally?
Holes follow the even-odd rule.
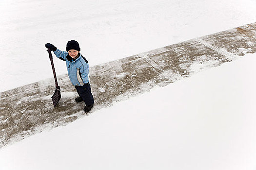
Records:
[[[256,23],[91,67],[95,107],[90,114],[254,52]],[[58,81],[62,97],[56,108],[51,101],[53,79],[0,93],[0,148],[86,116],[84,103],[74,101],[78,95],[68,76],[58,76]]]

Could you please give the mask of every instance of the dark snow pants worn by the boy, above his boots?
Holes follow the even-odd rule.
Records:
[[[75,85],[79,97],[83,99],[86,105],[94,104],[93,94],[91,93],[91,85],[89,83],[83,86]]]

